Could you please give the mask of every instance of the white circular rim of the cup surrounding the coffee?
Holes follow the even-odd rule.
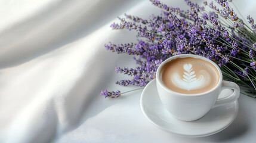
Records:
[[[160,78],[160,71],[162,69],[162,67],[168,63],[169,61],[171,60],[174,60],[176,58],[200,58],[202,60],[205,60],[205,61],[208,61],[209,63],[211,63],[214,67],[216,67],[216,69],[218,70],[218,74],[220,75],[219,79],[218,79],[218,83],[217,85],[210,89],[209,91],[206,91],[206,92],[202,92],[200,94],[181,94],[181,93],[178,93],[178,92],[175,92],[175,91],[172,91],[171,89],[167,88],[164,83],[162,83],[161,81],[161,78]],[[159,85],[161,85],[162,88],[164,88],[166,91],[168,91],[169,93],[171,94],[175,94],[175,95],[180,95],[180,96],[184,96],[184,97],[199,97],[199,96],[202,96],[202,95],[208,95],[209,93],[215,91],[216,89],[218,89],[220,86],[221,86],[221,83],[222,83],[222,80],[223,80],[223,76],[222,76],[222,73],[221,73],[221,70],[220,70],[220,67],[217,66],[217,64],[215,64],[213,61],[209,60],[208,58],[205,58],[205,57],[202,57],[201,55],[192,55],[192,54],[180,54],[180,55],[174,55],[170,58],[167,58],[165,61],[163,61],[158,69],[156,70],[156,82],[159,83]]]

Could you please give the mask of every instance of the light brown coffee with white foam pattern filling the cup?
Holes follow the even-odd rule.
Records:
[[[180,94],[201,94],[214,88],[220,74],[217,68],[200,58],[175,58],[166,63],[160,72],[164,85]]]

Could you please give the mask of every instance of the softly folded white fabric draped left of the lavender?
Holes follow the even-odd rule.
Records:
[[[0,142],[51,141],[100,96],[110,21],[135,2],[1,3]]]

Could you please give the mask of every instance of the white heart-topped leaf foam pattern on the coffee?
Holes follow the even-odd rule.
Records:
[[[202,88],[202,86],[207,86],[209,84],[209,79],[211,79],[209,73],[205,70],[198,72],[199,76],[196,76],[195,71],[193,71],[192,64],[184,64],[184,74],[183,77],[176,72],[172,74],[172,83],[177,84],[182,89],[189,91],[190,89]]]

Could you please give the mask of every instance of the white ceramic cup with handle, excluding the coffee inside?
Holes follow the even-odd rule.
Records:
[[[160,71],[162,67],[175,58],[187,57],[200,58],[202,60],[208,61],[217,68],[220,79],[214,88],[201,94],[180,94],[178,92],[171,91],[171,89],[164,85],[160,78]],[[184,121],[200,119],[206,113],[208,113],[211,108],[234,102],[240,95],[240,88],[236,83],[223,80],[221,70],[217,64],[208,58],[192,54],[175,55],[161,63],[158,67],[158,70],[156,71],[156,85],[159,97],[166,110],[168,110],[169,113],[171,113],[175,118]],[[218,99],[218,96],[223,89],[233,89],[233,93],[228,97]]]

